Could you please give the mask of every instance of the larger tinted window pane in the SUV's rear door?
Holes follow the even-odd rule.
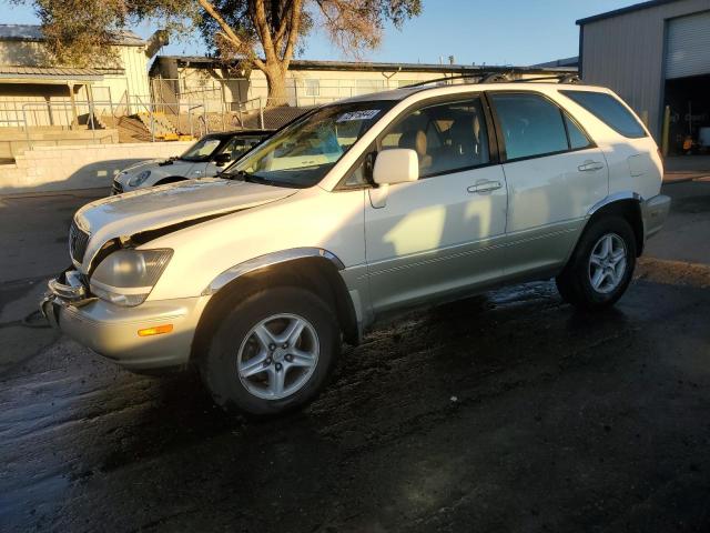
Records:
[[[560,109],[537,94],[493,94],[508,161],[568,150]]]

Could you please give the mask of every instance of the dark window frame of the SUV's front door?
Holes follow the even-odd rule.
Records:
[[[336,191],[352,191],[352,190],[361,190],[361,189],[375,189],[377,185],[374,183],[362,183],[362,184],[353,184],[347,185],[345,182],[351,178],[353,172],[363,164],[365,159],[369,157],[373,152],[379,153],[382,151],[382,140],[392,132],[392,130],[404,119],[406,119],[410,113],[417,111],[419,109],[429,108],[432,105],[443,104],[443,103],[455,103],[466,100],[471,100],[477,98],[480,101],[480,107],[484,110],[484,117],[486,118],[486,135],[488,138],[488,162],[481,164],[474,164],[469,167],[459,168],[450,171],[442,171],[434,172],[427,175],[420,175],[419,180],[428,180],[429,178],[437,178],[440,175],[447,174],[456,174],[458,172],[466,172],[475,169],[484,169],[486,167],[493,167],[495,164],[500,164],[500,152],[499,152],[499,141],[497,137],[497,129],[495,128],[493,110],[490,109],[490,102],[486,98],[486,92],[484,90],[471,91],[471,92],[457,92],[455,94],[444,94],[438,97],[428,98],[425,100],[419,100],[413,102],[410,105],[403,109],[394,119],[389,121],[389,123],[385,127],[383,131],[377,134],[377,138],[373,143],[371,143],[363,153],[355,160],[355,162],[351,165],[349,169],[343,174],[343,178],[338,182],[338,184],[333,189]],[[419,181],[417,180],[417,181]]]

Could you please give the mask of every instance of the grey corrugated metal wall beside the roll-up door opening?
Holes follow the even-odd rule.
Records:
[[[658,139],[665,82],[666,21],[710,11],[710,0],[679,0],[581,28],[581,70],[587,83],[616,91]]]

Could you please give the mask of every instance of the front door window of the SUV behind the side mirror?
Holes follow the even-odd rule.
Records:
[[[382,137],[381,148],[417,152],[419,177],[488,163],[488,132],[479,98],[416,109]]]

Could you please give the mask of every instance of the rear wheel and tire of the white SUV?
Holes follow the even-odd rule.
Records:
[[[606,217],[585,230],[565,270],[557,276],[562,299],[595,311],[613,305],[636,268],[636,237],[621,217]]]

